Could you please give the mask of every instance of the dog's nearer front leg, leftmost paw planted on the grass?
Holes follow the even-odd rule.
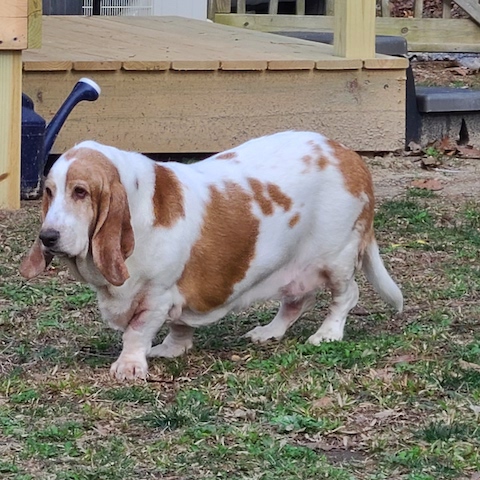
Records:
[[[122,353],[110,368],[112,377],[118,380],[147,378],[147,354],[152,348],[155,335],[165,322],[167,313],[168,310],[143,311],[130,321],[123,332]]]

